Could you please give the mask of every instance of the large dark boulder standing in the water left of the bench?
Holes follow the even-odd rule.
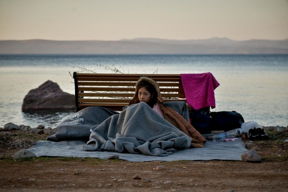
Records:
[[[75,96],[63,92],[50,80],[30,90],[22,104],[22,112],[59,110],[75,110]]]

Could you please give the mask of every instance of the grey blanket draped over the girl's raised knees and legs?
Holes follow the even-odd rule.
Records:
[[[191,138],[162,118],[146,103],[128,106],[92,127],[85,151],[118,151],[167,156],[189,148]]]

